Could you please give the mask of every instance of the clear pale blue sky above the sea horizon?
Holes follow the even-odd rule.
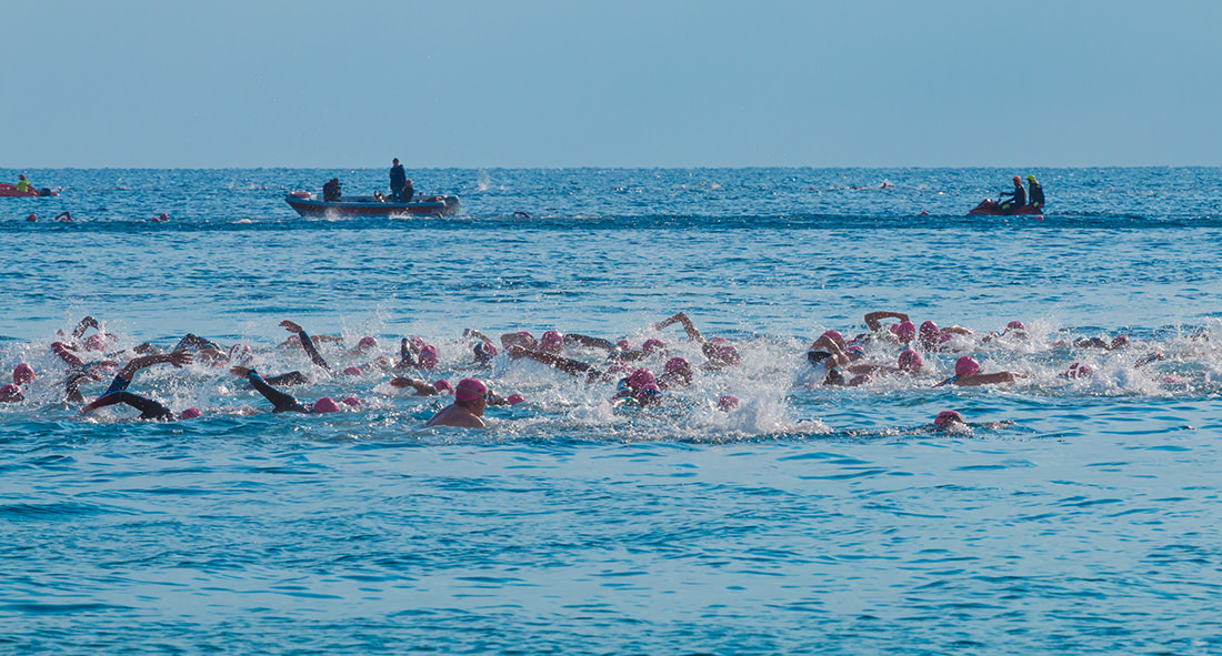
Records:
[[[7,169],[1222,165],[1217,0],[0,15]]]

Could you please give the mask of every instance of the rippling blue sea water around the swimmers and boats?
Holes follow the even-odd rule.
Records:
[[[415,170],[462,210],[390,220],[284,202],[385,169],[21,172],[61,193],[0,199],[0,370],[38,374],[0,403],[0,650],[1222,652],[1222,170]],[[965,216],[1026,173],[1045,217]],[[797,384],[814,337],[873,310],[974,336],[916,379]],[[651,409],[478,369],[463,337],[660,337],[701,363],[650,327],[676,312],[743,362]],[[200,419],[81,419],[50,343],[84,315],[119,359],[192,332],[362,406],[273,415],[197,363],[133,390]],[[310,369],[284,319],[342,336],[345,366],[370,369],[362,336],[422,336],[430,376],[528,402],[425,429],[444,398]],[[979,340],[1012,320],[1028,338]],[[934,387],[962,354],[1025,377]],[[970,430],[929,431],[943,409]]]

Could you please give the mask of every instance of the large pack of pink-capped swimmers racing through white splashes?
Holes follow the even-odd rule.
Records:
[[[985,373],[981,364],[969,354],[990,343],[1014,344],[1030,340],[1026,326],[1018,320],[1011,321],[1000,332],[979,333],[962,326],[938,326],[930,320],[916,326],[906,313],[880,310],[866,314],[864,324],[866,330],[852,338],[844,337],[837,330],[827,330],[811,341],[803,364],[796,373],[796,385],[807,388],[860,387],[874,381],[891,380],[901,385],[975,387],[1012,384],[1028,377],[1025,373],[1011,370]],[[664,341],[665,331],[673,325],[682,326],[683,338],[679,343],[667,344]],[[169,351],[150,343],[136,346],[130,351],[114,351],[117,337],[106,332],[92,316],[82,319],[71,333],[61,331],[60,338],[50,344],[50,351],[66,365],[61,379],[64,399],[83,404],[81,415],[88,415],[103,407],[125,404],[138,410],[141,419],[200,417],[204,413],[198,408],[175,413],[164,403],[131,390],[136,374],[142,369],[159,364],[183,368],[196,363],[222,368],[232,375],[241,376],[251,390],[271,404],[273,413],[323,414],[362,406],[357,396],[343,396],[340,401],[320,397],[313,402],[302,402],[285,391],[286,387],[309,385],[315,379],[314,374],[320,373],[326,373],[321,374],[326,376],[347,377],[385,376],[384,393],[389,395],[452,396],[452,403],[433,415],[425,424],[428,426],[484,428],[486,425],[484,414],[490,404],[516,406],[524,401],[521,393],[501,397],[485,380],[477,376],[463,377],[457,384],[451,384],[446,379],[429,382],[425,376],[437,369],[440,354],[435,344],[429,344],[420,337],[403,337],[400,340],[397,353],[386,353],[379,351],[378,340],[373,336],[362,337],[356,347],[347,349],[338,346],[343,342],[342,337],[312,336],[291,320],[281,321],[280,326],[290,336],[279,344],[279,348],[303,351],[315,369],[310,375],[301,370],[263,374],[257,369],[254,351],[248,344],[237,343],[225,348],[211,340],[191,333]],[[686,313],[681,312],[651,324],[648,331],[653,336],[639,348],[633,348],[627,340],[613,342],[573,332],[561,333],[556,330],[544,331],[539,338],[529,331],[517,331],[492,340],[478,330],[468,329],[461,341],[467,344],[464,349],[469,355],[453,369],[486,370],[494,364],[508,366],[529,360],[568,374],[584,384],[615,384],[615,392],[607,402],[616,408],[649,408],[664,403],[668,395],[689,388],[698,376],[716,376],[720,371],[743,364],[741,348],[743,344],[726,337],[706,337]],[[1207,335],[1202,335],[1201,338],[1207,340]],[[343,366],[341,371],[320,353],[319,344],[337,344],[341,351],[337,357],[354,364]],[[1069,351],[1123,351],[1132,347],[1133,341],[1127,335],[1112,338],[1080,337],[1048,344],[1048,348]],[[697,362],[672,353],[672,348],[697,358]],[[948,375],[938,382],[924,376],[925,359],[935,353],[940,358],[947,354],[957,355],[953,371],[947,371]],[[452,358],[447,359],[452,362]],[[1161,359],[1163,357],[1160,352],[1150,351],[1136,357],[1132,366],[1143,368]],[[655,374],[655,370],[660,373]],[[103,381],[112,371],[114,377],[109,387],[94,399],[86,402],[81,387]],[[1090,364],[1074,362],[1062,376],[1079,380],[1095,373],[1095,368]],[[0,386],[0,402],[23,401],[23,387],[31,385],[37,373],[32,365],[17,364],[12,374],[13,382]],[[925,382],[921,382],[923,380]],[[739,403],[733,393],[721,393],[709,401],[719,410],[727,413],[733,412]],[[960,424],[963,417],[954,410],[947,410],[934,418],[931,428],[951,430]]]

